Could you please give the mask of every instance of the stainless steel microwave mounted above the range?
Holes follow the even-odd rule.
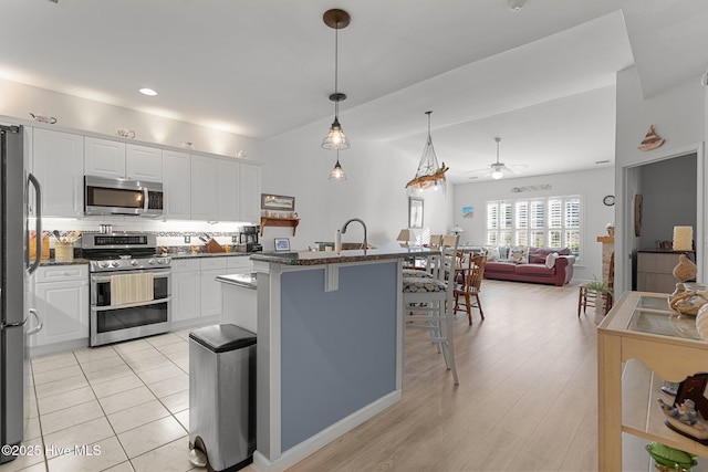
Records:
[[[84,176],[84,214],[163,216],[163,185]]]

